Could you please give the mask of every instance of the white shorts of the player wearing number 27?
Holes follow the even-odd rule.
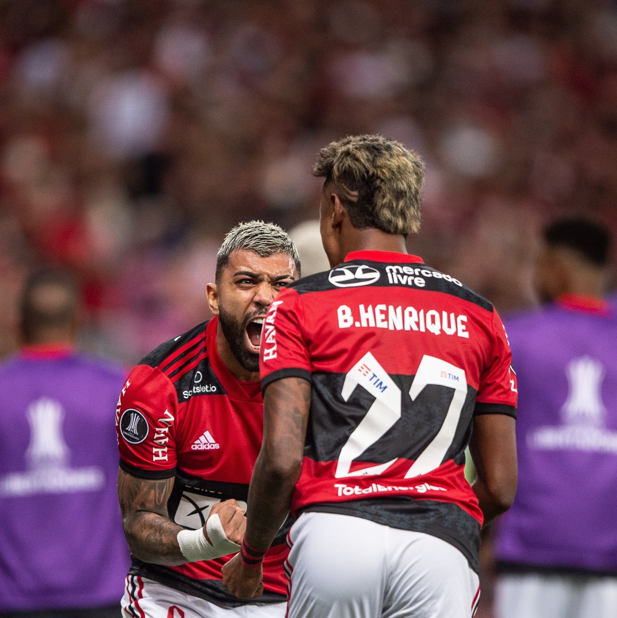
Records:
[[[289,538],[289,618],[475,613],[478,576],[458,549],[435,536],[360,517],[304,513]]]

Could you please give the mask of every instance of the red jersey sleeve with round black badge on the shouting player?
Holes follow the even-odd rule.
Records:
[[[176,474],[177,395],[158,368],[137,365],[118,399],[120,467],[139,478]]]

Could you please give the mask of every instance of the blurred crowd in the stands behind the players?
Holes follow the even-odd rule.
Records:
[[[0,1],[0,355],[38,263],[83,282],[83,347],[133,363],[208,316],[224,233],[317,217],[321,146],[427,165],[409,249],[534,302],[538,230],[617,231],[617,3]]]

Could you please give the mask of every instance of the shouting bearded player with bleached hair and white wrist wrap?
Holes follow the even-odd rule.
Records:
[[[281,228],[234,227],[218,252],[216,285],[208,285],[215,318],[161,344],[124,385],[116,410],[118,497],[133,558],[125,618],[284,616],[289,526],[266,554],[263,597],[239,601],[220,580],[239,550],[262,444],[263,319],[299,274],[296,248]]]

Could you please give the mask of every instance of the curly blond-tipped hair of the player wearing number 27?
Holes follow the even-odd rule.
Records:
[[[320,150],[313,176],[343,188],[352,226],[404,236],[419,231],[424,165],[401,143],[381,135],[332,142]]]

